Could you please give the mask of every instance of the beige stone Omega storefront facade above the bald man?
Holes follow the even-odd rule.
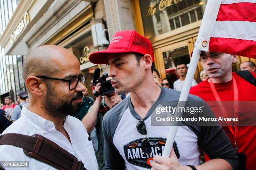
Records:
[[[94,47],[91,21],[95,19],[93,10],[101,6],[100,2],[97,2],[97,7],[95,3],[83,0],[20,0],[16,5],[0,37],[1,62],[3,60],[5,63],[3,68],[1,65],[1,102],[5,93],[15,98],[16,92],[25,90],[21,76],[23,58],[29,51],[45,44],[59,45],[72,51],[80,62],[82,73],[87,74],[86,86],[90,87],[93,72],[100,67],[88,60],[91,52],[99,50]],[[103,11],[99,10],[96,16],[103,25]],[[11,56],[17,56],[17,59]],[[10,59],[15,60],[12,62]],[[18,66],[9,63],[17,63]],[[14,74],[16,68],[19,74]],[[17,83],[12,83],[15,82],[15,76],[19,76],[17,80],[22,84],[16,89],[14,87]]]

